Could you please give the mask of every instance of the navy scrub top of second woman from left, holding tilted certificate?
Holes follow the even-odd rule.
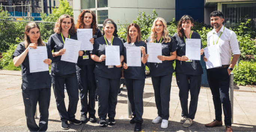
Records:
[[[63,36],[64,40],[65,37]],[[70,35],[70,39],[77,40],[77,35]],[[64,42],[61,34],[54,33],[50,36],[48,44],[54,52],[58,52],[64,47]],[[52,59],[51,74],[52,75],[67,75],[76,73],[76,64],[73,62],[61,61],[61,55]]]

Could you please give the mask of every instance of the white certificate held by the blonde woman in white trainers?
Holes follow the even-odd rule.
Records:
[[[162,44],[161,43],[147,43],[147,62],[162,63],[160,59],[157,58],[158,55],[162,55]]]

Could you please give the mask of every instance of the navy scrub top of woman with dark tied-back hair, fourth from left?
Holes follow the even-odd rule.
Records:
[[[108,41],[107,43],[108,45],[110,45]],[[101,55],[106,55],[106,41],[104,39],[104,36],[101,36],[100,38],[96,39],[94,41],[94,45],[96,47],[93,49],[91,54],[97,55],[98,57],[100,57]],[[124,55],[124,44],[121,39],[119,39],[118,37],[114,37],[112,45],[119,45],[120,55]],[[104,78],[119,79],[122,77],[122,67],[118,68],[114,65],[113,68],[108,68],[108,66],[106,65],[106,61],[95,62],[94,73],[95,75]]]

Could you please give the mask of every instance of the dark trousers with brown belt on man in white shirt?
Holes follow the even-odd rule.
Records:
[[[224,122],[226,126],[231,126],[231,103],[229,100],[228,68],[207,69],[207,80],[213,94],[213,104],[215,109],[215,119],[222,121],[222,107],[224,112]],[[222,104],[222,107],[221,107]]]

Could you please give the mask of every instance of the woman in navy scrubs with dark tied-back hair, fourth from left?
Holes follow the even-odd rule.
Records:
[[[106,118],[109,117],[109,125],[115,124],[116,104],[120,78],[122,76],[122,64],[124,60],[124,44],[116,35],[115,22],[106,19],[103,22],[103,36],[94,42],[95,48],[92,51],[91,58],[95,62],[95,79],[97,83],[98,94],[98,116],[100,117],[100,126],[107,126]],[[106,45],[118,45],[120,49],[120,65],[106,64]]]

